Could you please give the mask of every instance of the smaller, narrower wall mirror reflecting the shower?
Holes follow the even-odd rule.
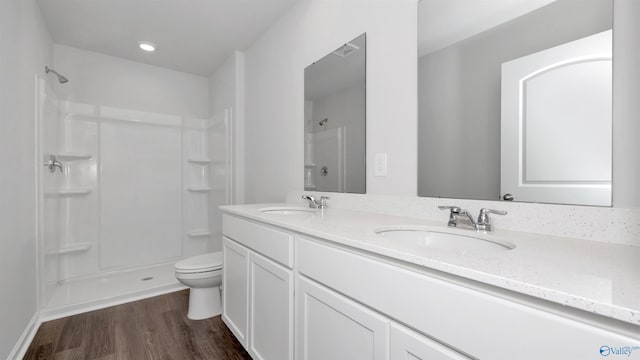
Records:
[[[304,189],[366,192],[366,34],[304,70]]]

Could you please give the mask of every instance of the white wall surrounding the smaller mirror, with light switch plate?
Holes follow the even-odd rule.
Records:
[[[301,0],[246,52],[247,202],[303,189],[304,68],[364,32],[367,193],[416,194],[417,1]]]

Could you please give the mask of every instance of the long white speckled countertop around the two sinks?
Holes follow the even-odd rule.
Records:
[[[224,212],[640,326],[640,247],[495,229],[481,237],[505,251],[455,251],[402,244],[374,230],[396,225],[477,236],[440,222],[328,208],[310,216],[266,214],[287,204],[222,206]],[[300,207],[300,205],[292,205]]]

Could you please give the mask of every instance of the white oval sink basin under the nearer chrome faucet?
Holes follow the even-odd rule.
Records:
[[[421,227],[387,227],[376,234],[407,245],[462,251],[506,251],[515,244],[487,236],[473,236],[435,231]]]

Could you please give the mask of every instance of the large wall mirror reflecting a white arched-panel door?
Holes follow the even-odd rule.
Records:
[[[418,195],[611,205],[612,0],[422,0]]]

